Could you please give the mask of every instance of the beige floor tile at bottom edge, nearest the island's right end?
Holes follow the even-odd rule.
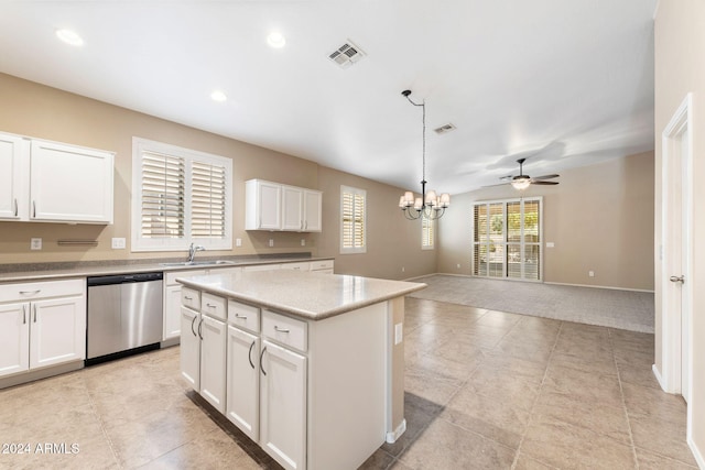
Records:
[[[436,419],[400,460],[413,469],[508,469],[513,457],[499,442]]]

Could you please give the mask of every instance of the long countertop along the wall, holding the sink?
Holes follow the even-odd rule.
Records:
[[[210,270],[247,266],[254,264],[279,264],[279,263],[301,263],[310,261],[335,260],[327,258],[311,256],[219,256],[217,260],[225,260],[226,264],[198,264],[208,261],[208,258],[197,256],[196,264],[188,265],[164,265],[171,260],[142,260],[142,261],[89,261],[89,262],[66,262],[66,263],[44,263],[44,264],[15,264],[6,265],[7,270],[0,272],[0,283],[18,281],[40,281],[58,280],[64,277],[101,276],[110,274],[133,274],[149,272],[169,272],[186,270]],[[215,260],[215,259],[214,259]]]

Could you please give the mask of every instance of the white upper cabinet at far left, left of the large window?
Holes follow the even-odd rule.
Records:
[[[112,223],[113,154],[0,133],[0,220]]]

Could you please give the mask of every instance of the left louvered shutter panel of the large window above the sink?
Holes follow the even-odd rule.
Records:
[[[184,237],[185,163],[181,157],[142,153],[143,238]]]

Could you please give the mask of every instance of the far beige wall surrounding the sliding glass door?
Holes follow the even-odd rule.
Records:
[[[471,274],[475,201],[542,196],[543,241],[555,243],[544,243],[545,282],[653,289],[653,153],[564,171],[556,181],[454,196],[441,219],[438,271]]]

